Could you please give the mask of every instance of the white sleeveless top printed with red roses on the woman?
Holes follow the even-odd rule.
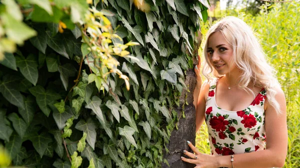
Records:
[[[264,99],[262,89],[241,111],[221,109],[215,102],[217,79],[210,83],[205,107],[211,155],[242,154],[265,149]]]

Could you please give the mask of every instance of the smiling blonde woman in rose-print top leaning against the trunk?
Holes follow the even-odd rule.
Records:
[[[207,81],[201,86],[199,61],[194,104],[196,130],[206,122],[211,155],[187,142],[194,154],[184,150],[181,160],[195,168],[283,167],[285,97],[251,28],[236,17],[223,18],[209,29],[204,56]]]

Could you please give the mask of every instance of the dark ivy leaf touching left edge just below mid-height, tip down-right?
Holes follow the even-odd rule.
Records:
[[[3,97],[11,104],[24,109],[24,100],[20,92],[14,86],[17,78],[11,75],[5,75],[0,83],[0,92]]]

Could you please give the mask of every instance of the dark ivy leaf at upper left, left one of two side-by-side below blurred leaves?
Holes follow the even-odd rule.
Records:
[[[29,39],[31,44],[36,47],[40,52],[45,54],[47,47],[48,36],[44,30],[43,26],[34,27],[37,31],[37,36],[34,36]]]

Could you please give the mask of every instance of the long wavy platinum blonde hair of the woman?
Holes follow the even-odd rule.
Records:
[[[250,82],[253,86],[263,87],[266,90],[269,105],[276,110],[277,114],[280,114],[279,103],[275,100],[276,88],[280,88],[280,84],[275,76],[276,71],[266,61],[266,55],[254,36],[252,29],[239,18],[233,16],[224,17],[212,25],[207,32],[203,50],[205,61],[202,73],[208,82],[212,79],[209,76],[211,73],[217,78],[223,76],[212,68],[207,54],[208,38],[217,31],[220,31],[231,45],[233,49],[232,62],[235,63],[238,69],[242,70],[238,86],[247,92],[251,92],[253,95],[253,91],[248,88]]]

